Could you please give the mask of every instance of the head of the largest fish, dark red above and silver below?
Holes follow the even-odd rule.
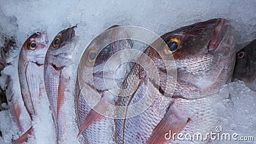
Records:
[[[173,54],[177,86],[194,88],[201,95],[215,93],[232,76],[235,58],[234,29],[225,19],[185,26],[163,36],[162,53]],[[182,84],[179,84],[182,81]],[[188,85],[183,85],[183,84]],[[190,95],[191,96],[191,95]]]

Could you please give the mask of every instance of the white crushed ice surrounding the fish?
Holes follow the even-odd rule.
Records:
[[[157,35],[163,35],[181,26],[216,17],[230,20],[232,26],[236,29],[237,44],[250,42],[256,38],[255,0],[75,0],[72,3],[70,1],[49,0],[0,0],[0,3],[0,11],[3,11],[3,13],[0,12],[1,19],[4,15],[17,19],[15,23],[18,26],[8,22],[8,20],[0,20],[0,24],[5,35],[8,35],[9,32],[10,36],[17,36],[19,47],[35,31],[47,31],[51,42],[62,29],[76,24],[78,24],[76,35],[81,36],[85,47],[94,36],[114,24],[141,26],[156,32]],[[77,56],[82,53],[82,48],[81,52],[77,52]],[[16,77],[15,93],[19,94],[19,81],[15,67],[6,68],[5,72]],[[216,109],[223,114],[220,115],[220,125],[223,127],[223,131],[237,132],[249,136],[254,134],[254,139],[256,139],[255,92],[248,90],[241,82],[228,84],[226,89],[230,93],[231,100],[224,99],[222,105],[216,106]],[[17,127],[9,116],[8,111],[0,112],[0,131],[3,133],[3,138],[0,137],[0,143],[10,143],[12,138],[15,139],[18,136]],[[26,115],[24,118],[26,118]],[[45,118],[45,120],[49,119],[47,116]],[[46,121],[35,120],[35,122],[44,125]],[[47,129],[47,127],[44,127],[43,130],[47,131]],[[54,131],[49,128],[47,134],[53,136]],[[47,134],[42,136],[45,139],[42,139],[40,143],[49,143],[52,140],[52,137],[46,138]],[[237,141],[233,142],[236,143]]]

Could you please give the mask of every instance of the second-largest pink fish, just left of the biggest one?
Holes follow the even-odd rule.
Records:
[[[111,26],[93,38],[79,62],[75,91],[75,108],[79,134],[82,134],[84,138],[83,143],[114,143],[114,120],[102,114],[106,110],[106,102],[115,105],[116,95],[115,93],[111,93],[113,87],[107,86],[104,76],[106,76],[107,81],[111,83],[116,82],[116,86],[120,86],[127,72],[129,72],[134,64],[127,62],[116,68],[122,74],[120,77],[111,75],[113,73],[106,70],[108,69],[106,67],[115,65],[115,61],[109,60],[111,56],[112,58],[116,56],[118,61],[122,61],[122,56],[115,54],[122,50],[132,48],[133,43],[131,39],[119,40],[124,37],[129,38],[124,28],[118,25]],[[128,53],[125,52],[125,54]],[[107,64],[108,60],[111,61],[110,65]],[[92,77],[90,77],[90,72],[92,72]],[[97,99],[97,96],[100,99],[99,103],[95,103],[94,107],[88,104],[86,97]],[[95,109],[101,111],[101,113],[98,113],[99,111]]]

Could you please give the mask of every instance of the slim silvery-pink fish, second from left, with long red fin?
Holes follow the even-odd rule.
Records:
[[[72,100],[67,92],[72,92],[68,84],[71,83],[71,74],[76,71],[72,65],[75,63],[72,54],[76,49],[77,36],[76,26],[63,29],[52,40],[45,55],[44,61],[44,82],[45,90],[52,111],[52,118],[56,130],[57,143],[67,143],[64,134],[69,131],[67,118],[70,114],[65,111],[63,104]],[[71,68],[72,70],[68,70]],[[74,96],[72,96],[74,97]],[[74,101],[73,101],[74,103]],[[70,106],[72,108],[72,106]]]

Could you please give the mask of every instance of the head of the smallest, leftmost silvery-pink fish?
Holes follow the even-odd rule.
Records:
[[[47,52],[49,41],[46,32],[36,32],[24,42],[20,51],[20,57],[23,60],[44,65],[44,58]]]

